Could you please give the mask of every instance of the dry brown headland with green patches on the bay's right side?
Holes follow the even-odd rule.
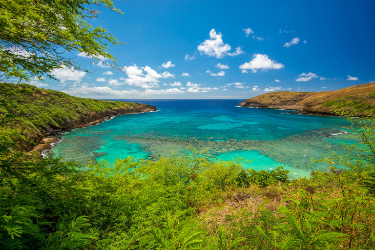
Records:
[[[278,91],[259,95],[240,103],[243,107],[276,108],[300,111],[303,114],[335,115],[339,108],[350,109],[358,116],[373,112],[375,83],[355,85],[334,91]]]

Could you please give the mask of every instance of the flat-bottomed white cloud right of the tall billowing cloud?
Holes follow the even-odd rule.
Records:
[[[283,64],[272,61],[266,54],[253,54],[252,60],[241,64],[239,68],[242,69],[242,73],[247,73],[246,69],[251,69],[252,73],[255,73],[258,69],[266,71],[268,69],[280,69],[283,67]]]

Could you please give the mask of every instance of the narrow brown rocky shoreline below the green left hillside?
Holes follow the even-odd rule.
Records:
[[[147,106],[150,106],[150,105],[147,105]],[[53,134],[54,134],[53,136],[43,137],[42,140],[36,146],[34,146],[33,149],[30,150],[30,153],[38,152],[39,157],[44,157],[43,151],[46,151],[48,153],[53,145],[55,145],[57,143],[60,143],[62,141],[61,135],[63,133],[72,131],[72,130],[77,129],[77,128],[84,128],[84,127],[98,125],[98,124],[104,123],[105,121],[109,121],[116,116],[128,115],[128,114],[142,114],[142,113],[158,111],[158,109],[156,109],[156,107],[155,107],[156,110],[153,110],[151,108],[147,108],[147,106],[146,106],[146,110],[142,111],[142,112],[128,112],[128,113],[123,113],[123,114],[114,114],[114,115],[106,116],[104,118],[101,118],[101,119],[98,119],[98,120],[95,120],[95,121],[91,121],[91,122],[88,122],[88,123],[85,123],[85,124],[74,125],[70,128],[55,129],[53,131]],[[133,111],[133,110],[128,110],[128,111]]]

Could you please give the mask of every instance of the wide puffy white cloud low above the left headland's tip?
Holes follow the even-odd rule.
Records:
[[[174,78],[175,75],[167,71],[162,74],[157,73],[149,66],[138,67],[136,64],[133,66],[124,66],[124,71],[127,74],[124,79],[126,84],[139,86],[142,88],[152,88],[159,86],[159,78]]]

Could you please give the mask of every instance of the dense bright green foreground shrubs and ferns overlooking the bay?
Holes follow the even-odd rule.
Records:
[[[358,141],[322,160],[331,171],[290,180],[194,150],[113,166],[42,159],[15,150],[5,116],[0,249],[375,248],[375,120],[353,119]]]

